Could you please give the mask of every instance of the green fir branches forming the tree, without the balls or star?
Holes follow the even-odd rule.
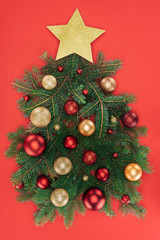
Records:
[[[118,96],[104,95],[99,87],[99,81],[106,76],[114,76],[121,68],[121,61],[106,61],[100,52],[97,62],[91,64],[77,54],[69,55],[58,61],[48,56],[45,52],[41,58],[46,65],[42,69],[34,67],[32,71],[25,71],[23,79],[16,79],[13,87],[23,95],[29,95],[28,101],[23,97],[18,100],[18,108],[25,117],[29,117],[32,110],[38,106],[49,109],[52,119],[44,128],[37,128],[29,122],[27,128],[20,127],[15,133],[9,133],[11,145],[6,151],[7,157],[14,157],[19,166],[12,176],[14,185],[23,181],[24,187],[19,192],[18,201],[32,200],[37,205],[34,214],[36,225],[43,225],[47,221],[54,221],[56,214],[64,217],[64,224],[69,227],[74,219],[75,212],[84,214],[85,207],[81,195],[89,187],[99,187],[106,195],[106,203],[101,210],[107,216],[113,216],[111,198],[118,200],[124,194],[130,196],[130,203],[125,205],[119,201],[119,209],[123,214],[133,213],[138,217],[144,217],[145,209],[137,204],[141,195],[137,190],[140,181],[130,182],[124,176],[124,168],[129,163],[137,163],[144,172],[150,173],[147,154],[148,147],[141,145],[139,136],[146,135],[145,127],[127,128],[122,126],[121,118],[130,107],[128,104],[136,100],[133,94],[120,94]],[[63,66],[63,71],[58,71],[58,66]],[[77,74],[77,69],[82,69],[82,74]],[[51,91],[41,86],[41,80],[45,75],[56,77],[58,85]],[[89,94],[84,96],[83,89]],[[79,107],[76,116],[67,115],[63,109],[69,97],[75,100]],[[90,137],[84,137],[78,132],[79,119],[95,116],[96,131]],[[117,118],[115,123],[110,121],[111,116]],[[60,130],[55,131],[54,125],[60,125]],[[73,124],[74,123],[74,124]],[[107,134],[107,129],[113,129],[114,134]],[[46,139],[46,150],[40,157],[28,156],[23,150],[24,138],[31,133],[40,133]],[[69,150],[63,145],[66,136],[73,135],[78,140],[76,149]],[[84,150],[93,150],[97,154],[94,165],[86,165],[82,161]],[[118,159],[114,159],[112,153],[118,152]],[[72,161],[72,171],[64,176],[57,176],[53,163],[60,156],[69,157]],[[106,167],[110,174],[107,183],[98,181],[91,175],[91,170]],[[37,187],[37,178],[40,174],[49,176],[51,185],[48,189]],[[84,182],[83,175],[89,176]],[[55,207],[50,196],[53,189],[64,188],[69,194],[69,202],[66,206]]]

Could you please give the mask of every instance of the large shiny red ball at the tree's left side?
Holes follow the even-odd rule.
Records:
[[[23,147],[24,151],[28,155],[37,157],[44,152],[46,148],[46,142],[41,135],[30,134],[24,139]]]

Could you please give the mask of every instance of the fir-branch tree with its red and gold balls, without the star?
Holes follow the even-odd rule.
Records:
[[[18,201],[37,205],[36,225],[59,214],[68,228],[75,213],[84,214],[86,208],[113,216],[112,198],[123,214],[143,218],[137,187],[142,171],[150,173],[151,167],[149,148],[138,137],[147,129],[137,126],[138,117],[128,106],[135,96],[113,94],[113,76],[121,61],[106,61],[100,52],[91,63],[83,51],[66,52],[62,57],[61,50],[58,60],[45,52],[44,67],[25,71],[23,79],[13,83],[23,93],[18,107],[30,118],[27,128],[9,133],[6,151],[19,166],[11,177]]]

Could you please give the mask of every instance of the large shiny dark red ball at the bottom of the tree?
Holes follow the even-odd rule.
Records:
[[[89,210],[100,210],[106,201],[105,194],[101,189],[92,187],[83,194],[83,204]]]

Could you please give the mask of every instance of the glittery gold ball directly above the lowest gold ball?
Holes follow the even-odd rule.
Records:
[[[54,161],[54,170],[59,175],[66,175],[72,169],[72,162],[67,157],[59,157]]]

